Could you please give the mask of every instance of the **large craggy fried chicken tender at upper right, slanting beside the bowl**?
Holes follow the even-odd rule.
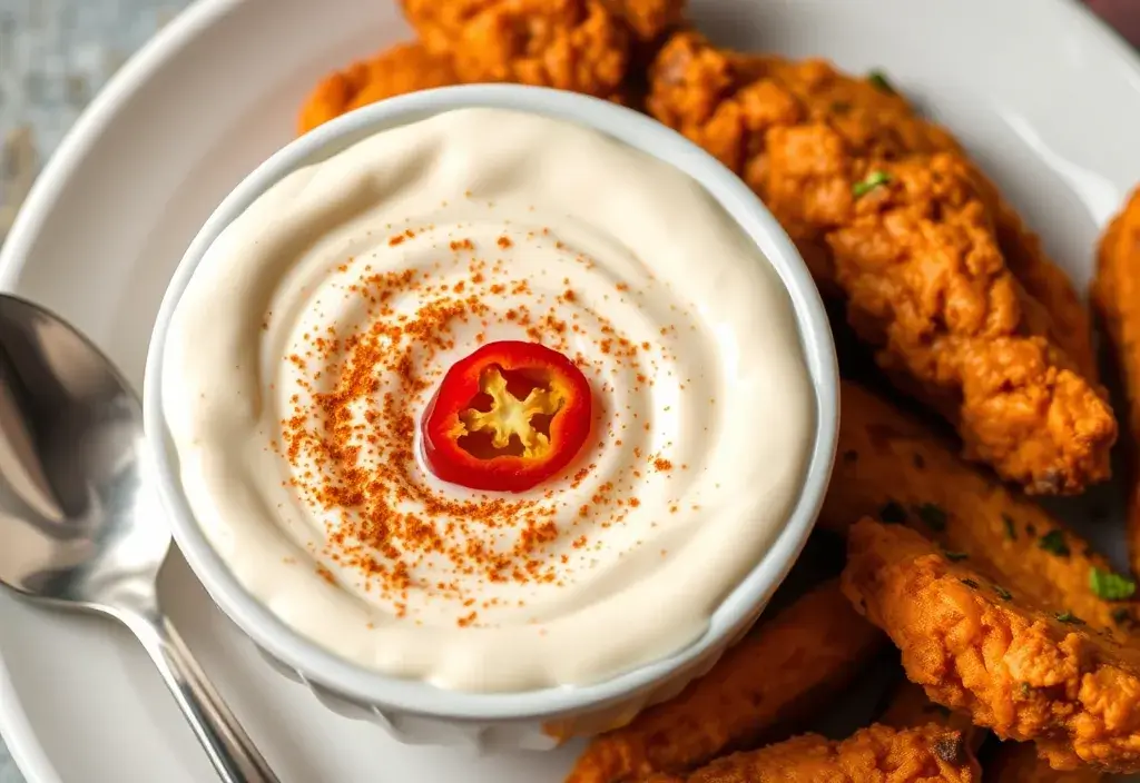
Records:
[[[759,193],[879,363],[958,427],[969,459],[1039,494],[1108,477],[1116,422],[1088,314],[948,133],[889,86],[692,32],[659,53],[646,105]]]

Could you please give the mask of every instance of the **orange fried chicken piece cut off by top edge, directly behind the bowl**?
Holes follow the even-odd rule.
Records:
[[[598,98],[620,96],[630,34],[602,0],[401,0],[401,5],[427,49],[450,57],[464,82],[516,82]],[[636,3],[620,5],[632,9]],[[646,2],[648,14],[654,5]]]

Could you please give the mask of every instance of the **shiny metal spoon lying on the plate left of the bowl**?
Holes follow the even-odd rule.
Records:
[[[221,780],[277,781],[158,603],[170,533],[138,397],[67,323],[0,294],[0,583],[129,627]]]

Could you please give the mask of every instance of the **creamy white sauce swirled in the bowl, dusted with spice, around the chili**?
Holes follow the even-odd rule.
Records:
[[[703,189],[504,110],[285,178],[168,339],[186,495],[241,583],[344,658],[448,689],[586,684],[694,641],[781,529],[815,427],[787,292]],[[488,496],[415,439],[447,368],[499,339],[576,358],[596,415],[564,476]],[[329,396],[352,366],[374,387]],[[328,410],[356,451],[329,458]],[[360,492],[329,493],[349,469]]]

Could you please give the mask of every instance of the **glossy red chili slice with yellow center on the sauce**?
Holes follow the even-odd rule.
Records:
[[[424,461],[472,489],[524,492],[559,475],[589,436],[589,382],[537,343],[488,343],[443,376],[421,422]]]

